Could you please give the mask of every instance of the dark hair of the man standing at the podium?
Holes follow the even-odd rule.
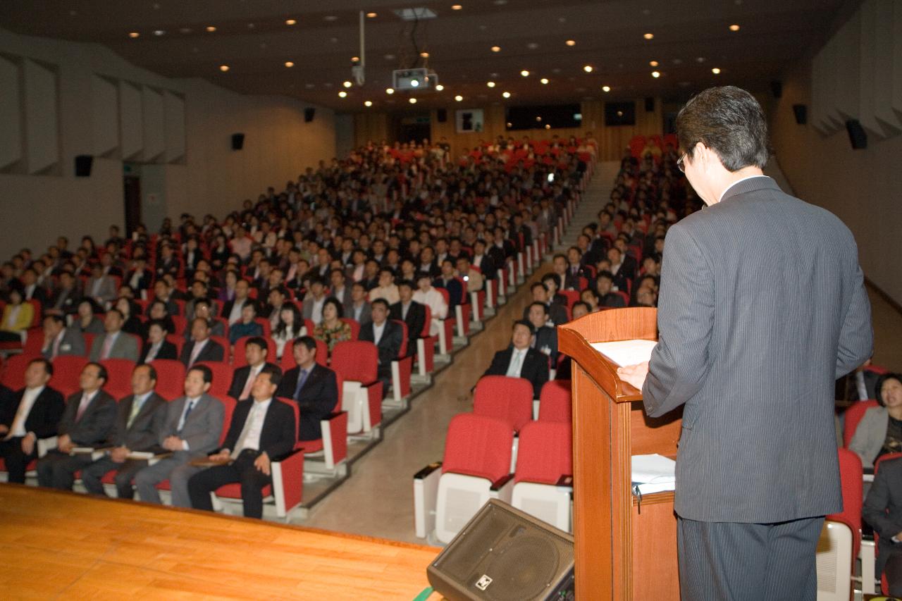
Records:
[[[768,164],[768,122],[758,101],[741,88],[708,88],[676,116],[679,145],[691,160],[695,144],[713,150],[728,171]]]

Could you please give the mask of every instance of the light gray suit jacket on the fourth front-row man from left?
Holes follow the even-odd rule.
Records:
[[[226,420],[226,408],[223,403],[217,401],[209,394],[203,394],[191,410],[188,420],[179,433],[179,420],[182,411],[185,410],[185,402],[188,397],[180,396],[169,403],[166,412],[166,424],[160,435],[160,444],[170,436],[178,436],[188,442],[189,450],[176,451],[173,458],[182,463],[191,458],[207,455],[214,448],[219,447],[219,437],[222,435],[223,421]]]

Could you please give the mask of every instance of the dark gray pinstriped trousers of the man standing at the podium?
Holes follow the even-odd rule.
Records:
[[[778,523],[677,519],[686,601],[815,601],[815,550],[824,517]]]

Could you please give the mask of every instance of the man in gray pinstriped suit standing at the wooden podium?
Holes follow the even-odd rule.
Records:
[[[824,514],[842,509],[834,382],[873,346],[855,240],[763,175],[748,92],[709,88],[676,125],[677,165],[708,207],[667,233],[658,345],[621,377],[652,417],[685,404],[681,595],[814,600]]]

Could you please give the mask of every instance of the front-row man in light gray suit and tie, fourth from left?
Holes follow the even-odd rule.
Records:
[[[172,455],[151,467],[144,467],[134,476],[134,484],[142,501],[160,504],[156,485],[169,478],[172,505],[190,507],[188,480],[203,467],[190,461],[206,458],[219,446],[219,437],[226,419],[223,403],[207,394],[213,383],[213,372],[207,365],[195,365],[185,376],[185,396],[170,402],[166,424],[160,435],[160,445]]]

